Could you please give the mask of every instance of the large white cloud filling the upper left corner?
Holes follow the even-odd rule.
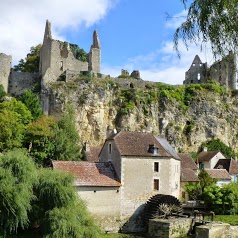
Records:
[[[64,39],[66,28],[89,27],[100,21],[115,4],[113,0],[8,0],[1,2],[0,52],[16,63],[31,46],[43,40],[45,21],[52,23],[52,35]]]

